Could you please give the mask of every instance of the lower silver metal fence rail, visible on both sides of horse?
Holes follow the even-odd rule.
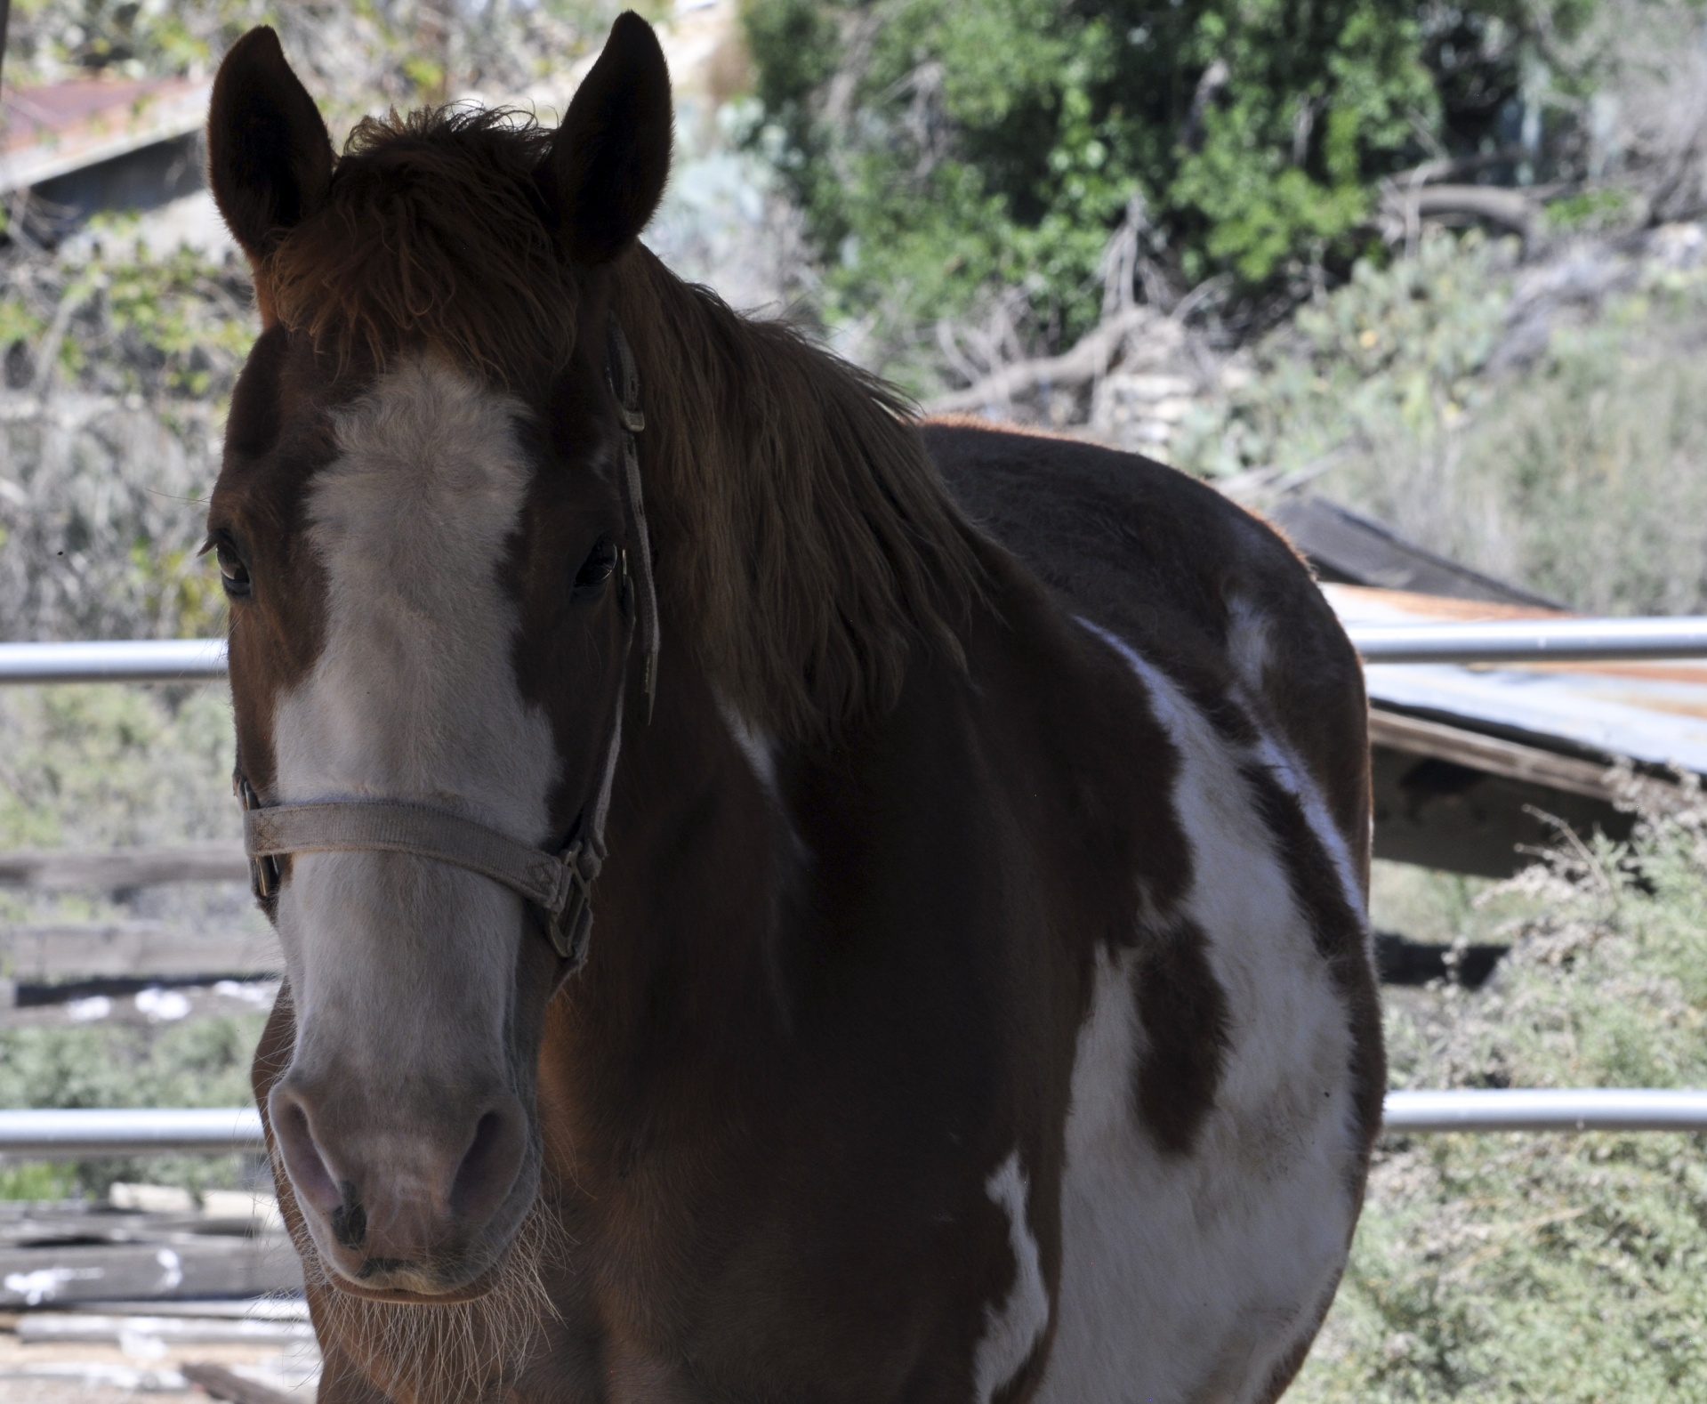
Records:
[[[1389,1091],[1383,1129],[1707,1131],[1707,1091],[1509,1088]],[[0,1112],[0,1156],[82,1160],[118,1155],[259,1151],[253,1107]]]

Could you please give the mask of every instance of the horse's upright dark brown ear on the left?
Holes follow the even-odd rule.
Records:
[[[251,260],[326,198],[331,137],[290,72],[278,36],[251,29],[225,55],[208,109],[208,181],[225,224]]]

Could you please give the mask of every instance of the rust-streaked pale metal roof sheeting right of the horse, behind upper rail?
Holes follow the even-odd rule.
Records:
[[[1347,622],[1557,618],[1533,606],[1325,584]],[[1707,774],[1707,663],[1369,664],[1374,705],[1441,717],[1550,750]]]

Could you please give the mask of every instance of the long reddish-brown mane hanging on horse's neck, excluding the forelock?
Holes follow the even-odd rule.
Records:
[[[659,584],[731,700],[801,734],[891,705],[913,647],[958,661],[976,548],[900,395],[644,246],[621,265]]]

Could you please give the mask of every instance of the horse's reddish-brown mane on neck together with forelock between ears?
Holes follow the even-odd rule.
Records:
[[[364,120],[328,207],[258,270],[340,364],[437,348],[498,386],[567,364],[579,285],[538,203],[551,132],[510,111]],[[635,244],[608,270],[640,369],[667,649],[780,738],[893,705],[912,654],[963,663],[982,547],[898,391],[734,313]]]

